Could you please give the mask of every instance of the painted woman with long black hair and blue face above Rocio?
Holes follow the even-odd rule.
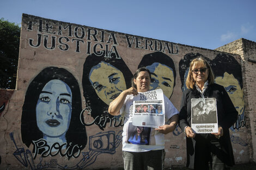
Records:
[[[26,92],[21,116],[23,143],[29,147],[43,138],[50,147],[66,143],[66,148],[77,146],[73,153],[81,151],[87,144],[81,111],[80,87],[74,75],[64,68],[45,68]]]

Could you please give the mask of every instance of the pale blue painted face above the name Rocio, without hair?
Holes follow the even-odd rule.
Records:
[[[61,80],[51,80],[42,89],[36,104],[36,123],[49,137],[65,135],[72,112],[72,92]]]

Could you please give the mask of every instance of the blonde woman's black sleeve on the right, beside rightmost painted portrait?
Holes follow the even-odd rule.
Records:
[[[227,91],[225,91],[224,87],[222,86],[221,89],[222,97],[223,97],[223,105],[224,105],[224,119],[222,121],[221,127],[222,128],[230,128],[237,120],[238,112],[235,109],[234,104],[232,103],[231,99],[228,96]]]

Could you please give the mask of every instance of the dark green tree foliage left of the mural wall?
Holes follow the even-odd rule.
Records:
[[[0,89],[15,89],[20,27],[0,19]]]

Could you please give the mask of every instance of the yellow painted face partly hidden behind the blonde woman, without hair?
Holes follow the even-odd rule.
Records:
[[[225,88],[237,112],[239,115],[242,115],[245,110],[245,102],[243,99],[243,90],[239,85],[239,81],[233,74],[225,72],[223,77],[216,77],[215,82]]]

